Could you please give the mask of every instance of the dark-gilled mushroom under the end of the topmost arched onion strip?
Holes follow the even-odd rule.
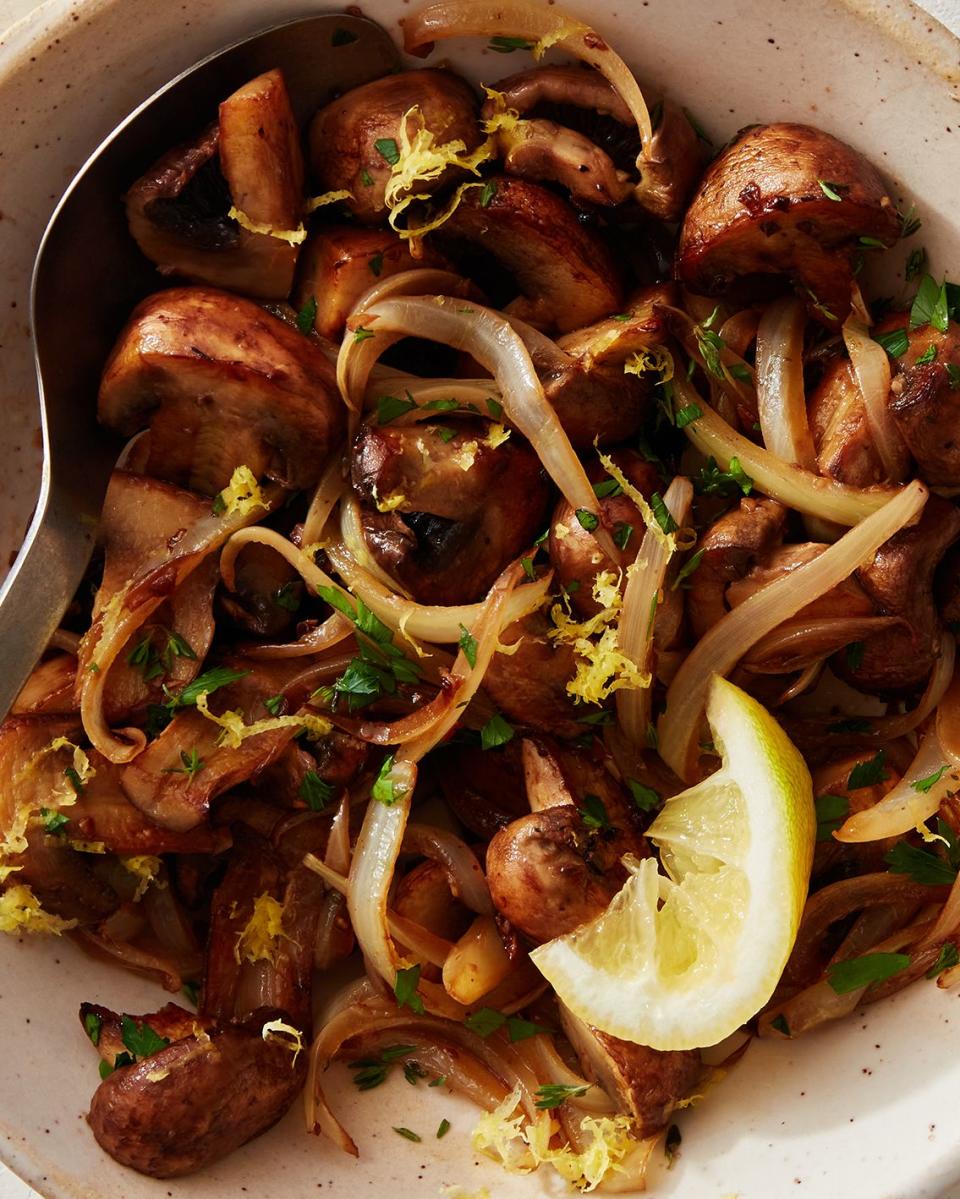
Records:
[[[536,67],[500,80],[494,94],[483,107],[484,118],[503,108],[524,118],[503,122],[496,132],[508,175],[561,183],[582,204],[612,207],[635,195],[663,219],[681,216],[704,153],[689,120],[672,102],[656,107],[659,120],[650,162],[638,185],[636,123],[598,72]]]

